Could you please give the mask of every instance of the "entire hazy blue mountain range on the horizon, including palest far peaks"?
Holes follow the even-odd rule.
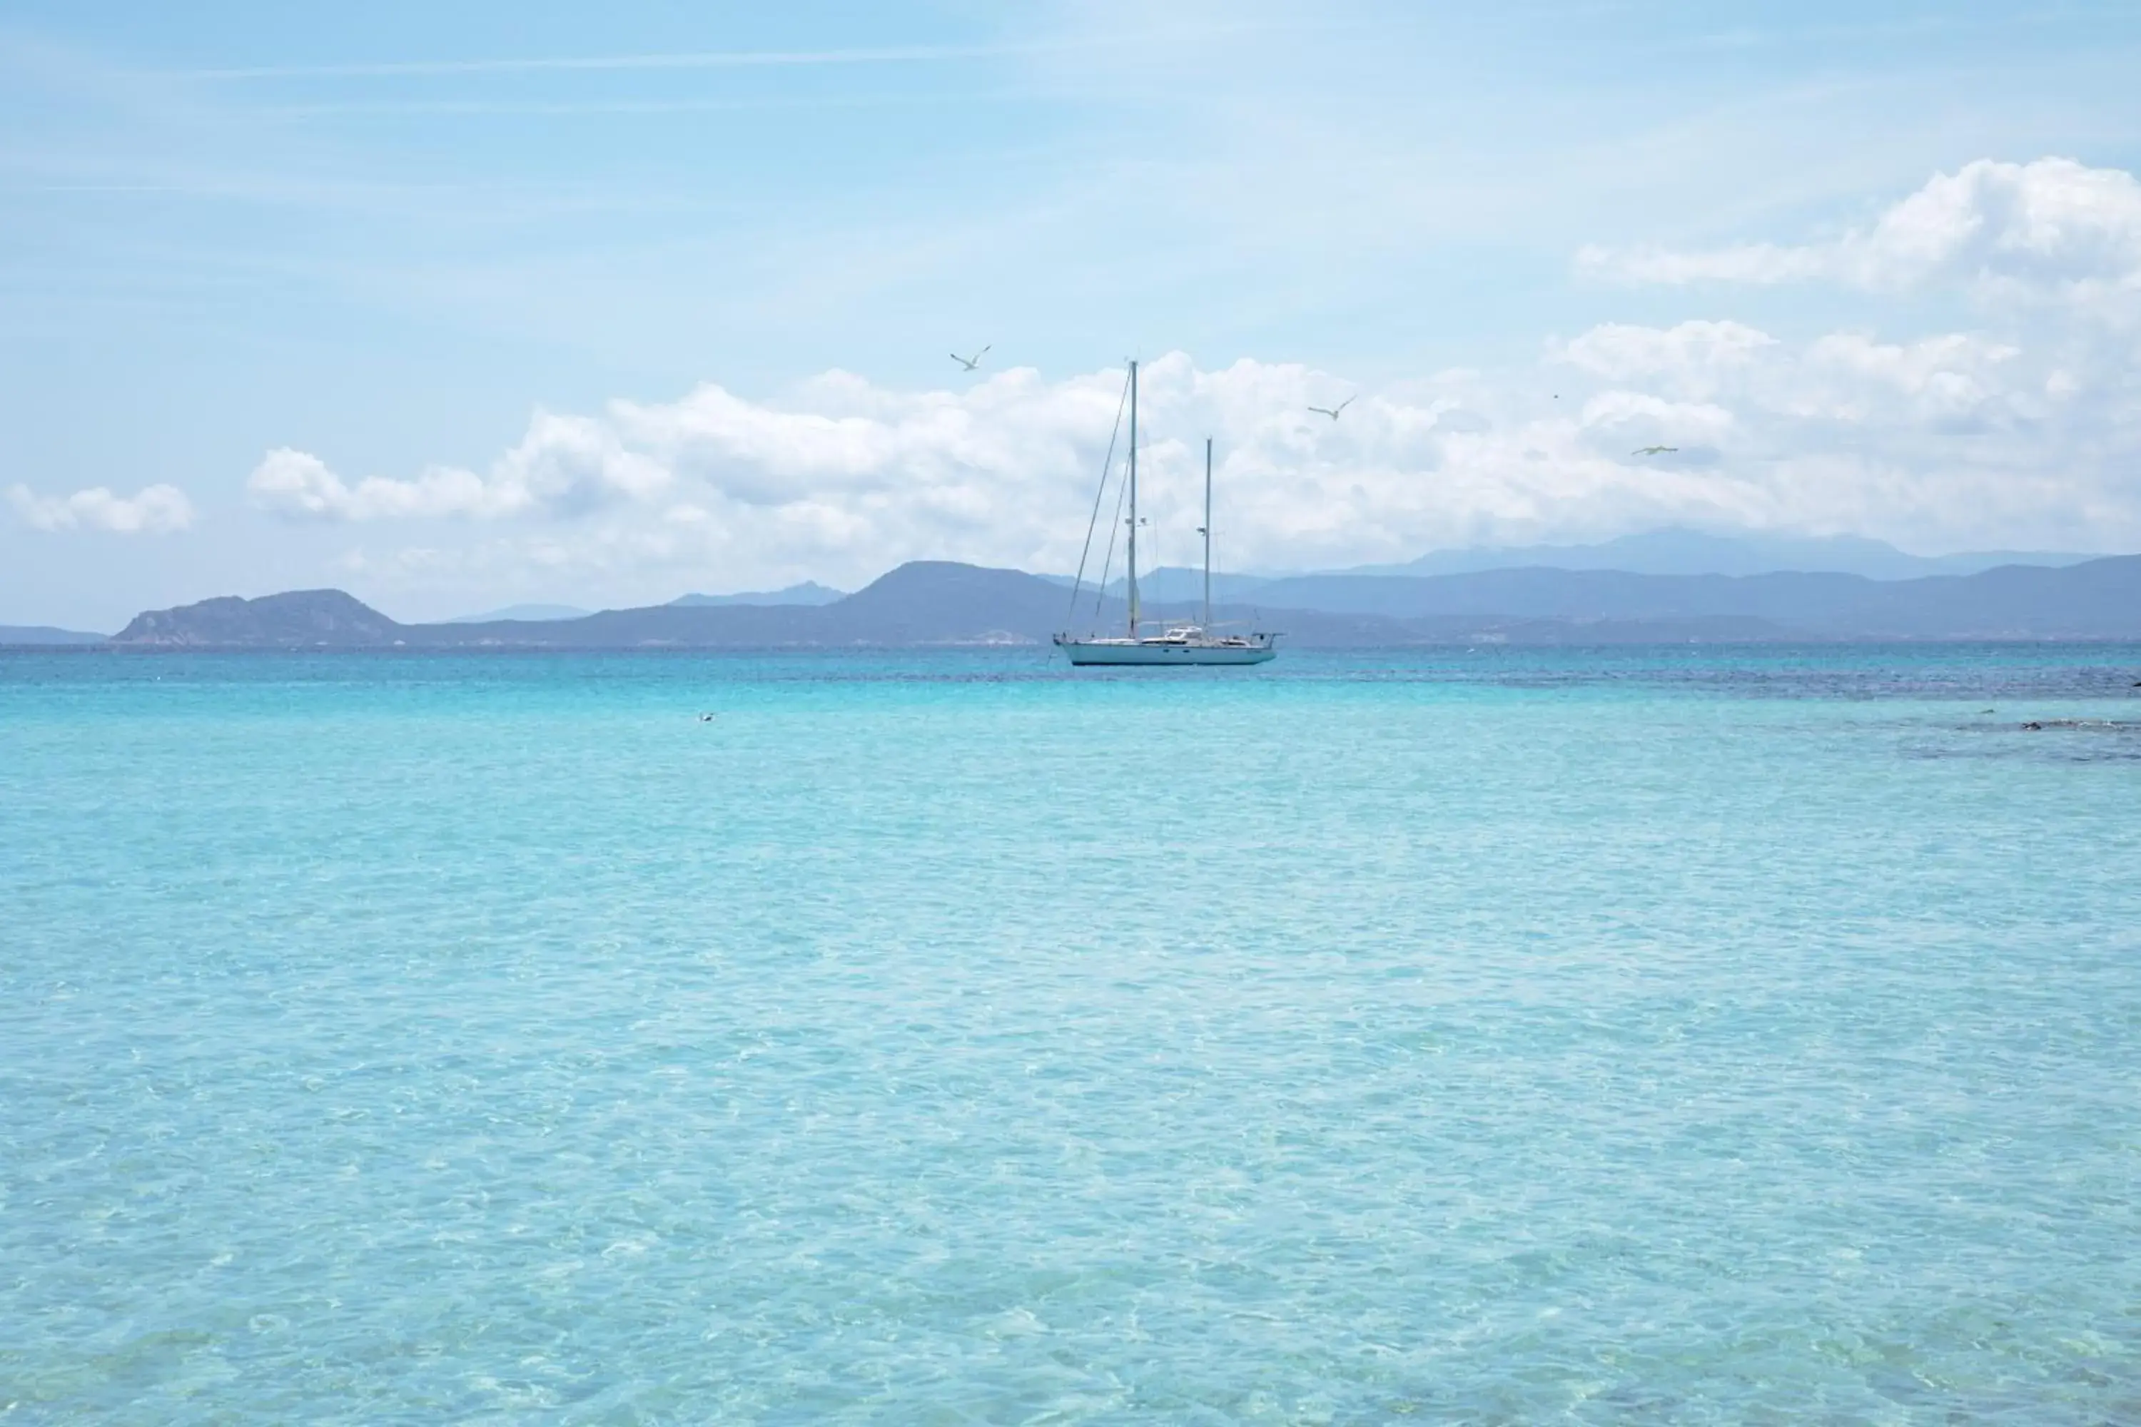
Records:
[[[2122,573],[2135,558],[2141,556],[1914,556],[1861,537],[1649,531],[1597,546],[1447,550],[1407,565],[1321,573],[1214,573],[1212,597],[1216,618],[1276,623],[1293,644],[2141,638]],[[113,642],[334,648],[1023,642],[1045,640],[1070,618],[1070,576],[923,561],[854,595],[803,582],[762,593],[683,595],[644,610],[510,605],[443,625],[400,625],[338,590],[298,590],[141,614]],[[1203,573],[1145,571],[1139,593],[1150,614],[1186,616],[1199,608]],[[1098,595],[1085,584],[1079,627],[1124,618],[1120,576],[1109,578],[1100,616],[1092,603]],[[0,644],[103,642],[71,629],[0,625]]]

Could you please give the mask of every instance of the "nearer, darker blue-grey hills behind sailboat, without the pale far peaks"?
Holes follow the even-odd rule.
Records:
[[[1758,640],[2135,640],[2141,556],[1972,576],[1642,576],[1494,569],[1456,576],[1297,576],[1235,597],[1216,620],[1280,629],[1293,646],[1629,644]],[[1015,569],[901,565],[831,603],[670,603],[570,620],[400,625],[340,590],[208,599],[137,616],[128,648],[775,648],[1043,644],[1068,593]],[[1184,616],[1184,601],[1148,605]],[[1115,599],[1075,627],[1118,627]]]

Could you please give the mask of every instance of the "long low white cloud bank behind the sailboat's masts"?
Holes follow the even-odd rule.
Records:
[[[1148,558],[1193,561],[1205,434],[1218,443],[1220,556],[1235,569],[1668,522],[1920,548],[2137,543],[2132,392],[2077,379],[2098,368],[2070,357],[1980,334],[1796,342],[1724,321],[1604,325],[1550,344],[1537,370],[1360,389],[1332,421],[1308,406],[1355,387],[1330,372],[1250,359],[1201,370],[1173,353],[1143,368],[1152,526],[1139,543]],[[407,584],[662,597],[803,578],[852,588],[910,558],[1068,571],[1120,402],[1120,372],[1013,370],[963,392],[829,372],[777,402],[700,387],[537,417],[486,477],[347,486],[276,451],[255,494],[343,520],[480,518],[465,535],[432,522],[409,550],[349,556]],[[1640,454],[1655,445],[1676,449]],[[1111,490],[1103,541],[1113,509]]]

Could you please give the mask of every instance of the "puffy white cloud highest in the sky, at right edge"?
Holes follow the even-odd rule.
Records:
[[[1625,282],[1801,282],[1863,289],[1959,282],[2075,300],[2141,293],[2141,182],[2072,158],[1980,158],[1938,173],[1869,229],[1807,246],[1709,252],[1584,248],[1578,265]]]

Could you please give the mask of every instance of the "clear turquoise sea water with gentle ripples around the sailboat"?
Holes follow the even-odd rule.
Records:
[[[0,657],[0,1423],[2141,1421],[2137,678]]]

